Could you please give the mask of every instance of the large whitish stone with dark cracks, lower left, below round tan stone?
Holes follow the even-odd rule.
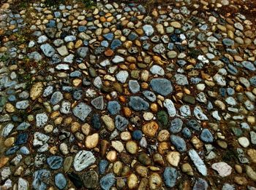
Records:
[[[94,164],[95,161],[96,159],[91,151],[78,151],[74,159],[75,171],[80,172]]]

